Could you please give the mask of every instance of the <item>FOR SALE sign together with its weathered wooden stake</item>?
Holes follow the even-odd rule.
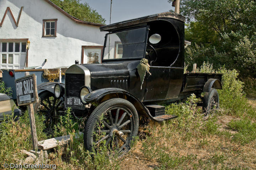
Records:
[[[17,93],[17,103],[19,106],[28,105],[28,114],[30,117],[31,138],[33,149],[38,150],[38,139],[36,132],[36,121],[34,118],[33,103],[38,103],[36,75],[25,73],[25,77],[15,79],[15,87]]]

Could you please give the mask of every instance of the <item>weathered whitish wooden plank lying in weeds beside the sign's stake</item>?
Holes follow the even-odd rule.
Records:
[[[82,132],[79,132],[79,135],[78,133],[75,133],[75,138],[78,138],[82,134],[83,134]],[[69,142],[70,142],[70,135],[66,135],[66,136],[60,136],[60,137],[39,141],[38,147],[42,150],[48,150],[48,149],[55,148],[57,146],[66,145]]]

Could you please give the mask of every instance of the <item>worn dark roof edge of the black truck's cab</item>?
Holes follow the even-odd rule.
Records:
[[[118,29],[122,27],[127,27],[127,26],[133,26],[137,24],[142,24],[142,23],[147,23],[150,21],[156,21],[159,20],[159,18],[173,18],[175,20],[185,22],[186,18],[183,15],[174,13],[174,12],[162,12],[162,13],[156,13],[153,15],[148,15],[140,18],[135,18],[132,20],[126,20],[122,22],[117,22],[113,23],[110,25],[102,26],[100,27],[100,31],[109,31],[111,32],[113,29]]]

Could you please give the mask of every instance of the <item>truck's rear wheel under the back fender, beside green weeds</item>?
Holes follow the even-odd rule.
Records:
[[[214,109],[219,108],[219,94],[215,88],[206,92],[203,98],[203,113],[209,115]]]

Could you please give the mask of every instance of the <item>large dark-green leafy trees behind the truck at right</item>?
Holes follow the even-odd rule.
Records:
[[[256,77],[254,0],[181,0],[181,13],[189,22],[185,37],[192,41],[189,64],[209,61]]]

